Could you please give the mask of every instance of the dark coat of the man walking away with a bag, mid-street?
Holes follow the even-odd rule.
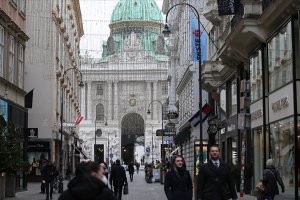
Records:
[[[109,183],[115,187],[127,184],[125,169],[120,164],[115,164],[110,172]]]

